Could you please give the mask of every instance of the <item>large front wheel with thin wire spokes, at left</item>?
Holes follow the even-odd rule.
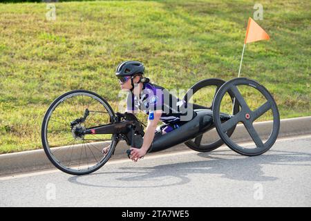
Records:
[[[102,98],[88,90],[73,90],[50,105],[41,128],[44,151],[58,169],[84,175],[100,169],[117,144],[115,134],[84,134],[86,128],[110,124],[115,114]],[[102,149],[109,146],[108,153]]]

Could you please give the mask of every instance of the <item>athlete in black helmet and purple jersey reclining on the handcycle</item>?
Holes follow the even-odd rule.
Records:
[[[135,114],[140,110],[149,115],[142,147],[131,148],[131,160],[137,162],[147,153],[155,131],[169,133],[187,122],[180,120],[181,115],[185,115],[185,112],[180,111],[185,101],[180,101],[161,86],[151,84],[143,76],[144,64],[139,61],[122,62],[117,66],[115,75],[120,81],[121,89],[129,90],[126,112]],[[164,124],[157,128],[159,121]],[[110,145],[103,149],[104,154],[108,153],[109,147]]]

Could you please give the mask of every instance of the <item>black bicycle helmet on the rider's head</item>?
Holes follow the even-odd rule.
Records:
[[[115,70],[117,77],[133,76],[135,74],[144,74],[144,64],[139,61],[124,61]]]

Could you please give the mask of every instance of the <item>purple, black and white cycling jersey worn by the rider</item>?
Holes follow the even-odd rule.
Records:
[[[129,93],[126,102],[126,109],[129,111],[138,111],[140,109],[147,115],[149,113],[162,110],[160,120],[164,124],[173,124],[180,122],[180,107],[185,101],[180,101],[177,97],[171,95],[168,90],[151,83],[143,83],[140,98],[133,93]]]

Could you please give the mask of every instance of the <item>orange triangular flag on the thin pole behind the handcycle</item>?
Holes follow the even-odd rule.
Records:
[[[269,39],[270,37],[265,30],[263,30],[263,28],[261,28],[261,26],[259,26],[252,18],[249,18],[244,44]]]

